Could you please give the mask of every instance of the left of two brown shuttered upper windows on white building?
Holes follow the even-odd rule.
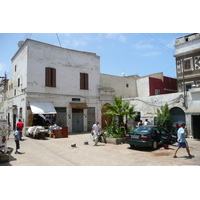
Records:
[[[56,69],[51,67],[45,68],[45,86],[56,87]]]

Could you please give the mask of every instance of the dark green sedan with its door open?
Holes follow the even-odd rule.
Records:
[[[158,126],[139,126],[126,133],[126,143],[131,147],[151,147],[157,149],[163,144],[173,144],[177,141],[177,134],[172,134]]]

